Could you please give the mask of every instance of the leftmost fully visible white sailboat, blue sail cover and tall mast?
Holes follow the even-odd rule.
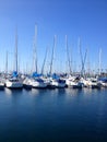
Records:
[[[5,87],[8,88],[22,88],[23,83],[17,73],[17,33],[15,34],[15,62],[14,71],[10,78],[5,80]]]

